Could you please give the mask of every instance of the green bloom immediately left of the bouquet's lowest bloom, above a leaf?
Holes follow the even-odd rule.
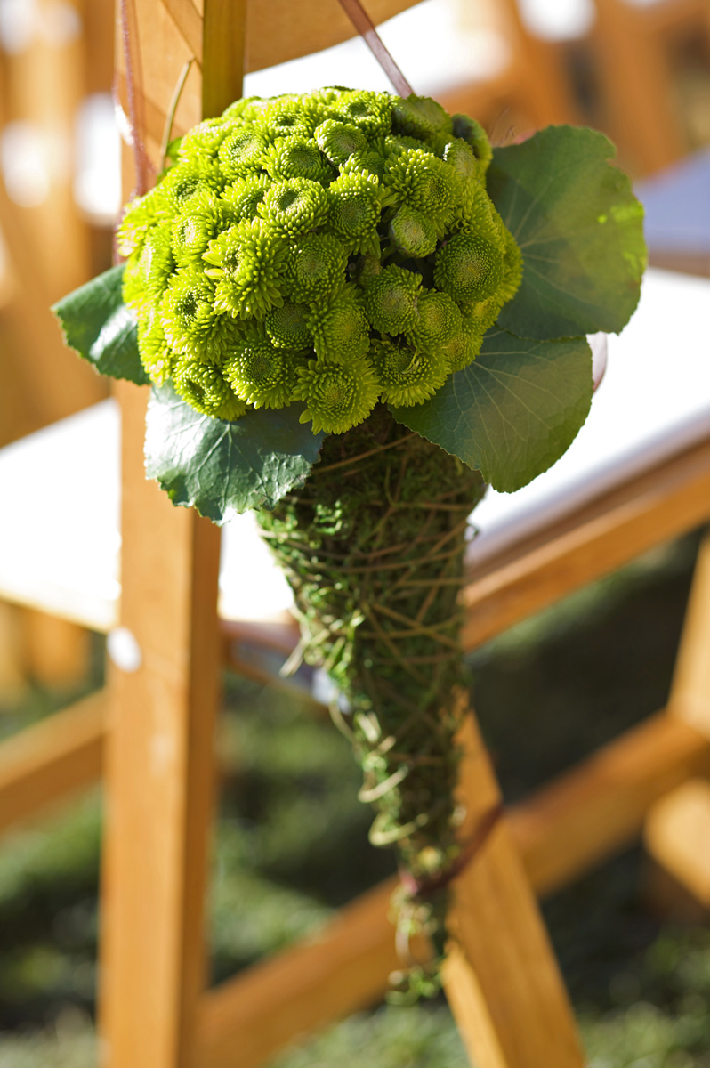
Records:
[[[283,408],[291,398],[298,365],[297,354],[274,348],[264,331],[252,328],[223,372],[237,396],[254,408]]]

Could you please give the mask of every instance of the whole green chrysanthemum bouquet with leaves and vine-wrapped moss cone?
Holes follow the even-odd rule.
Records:
[[[125,265],[57,309],[99,372],[152,383],[146,470],[175,504],[262,509],[407,873],[400,922],[440,946],[469,516],[565,452],[585,335],[635,308],[642,210],[612,151],[564,126],[492,151],[427,97],[237,100],[128,205]]]

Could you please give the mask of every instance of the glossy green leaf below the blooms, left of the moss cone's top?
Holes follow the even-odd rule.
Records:
[[[272,508],[301,486],[325,435],[299,423],[301,408],[261,408],[228,423],[202,415],[171,383],[154,387],[145,421],[145,473],[173,504],[194,505],[225,523],[249,508]]]

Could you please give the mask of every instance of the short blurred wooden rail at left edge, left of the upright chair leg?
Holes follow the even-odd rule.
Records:
[[[98,782],[107,705],[100,691],[3,741],[0,830],[44,815]]]

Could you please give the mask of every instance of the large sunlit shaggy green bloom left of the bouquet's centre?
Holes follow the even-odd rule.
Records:
[[[204,258],[214,265],[205,273],[217,282],[215,311],[263,318],[280,304],[287,251],[262,219],[240,222],[210,241]]]

